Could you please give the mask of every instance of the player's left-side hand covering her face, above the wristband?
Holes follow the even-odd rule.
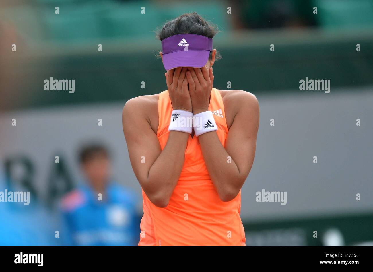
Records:
[[[186,79],[187,68],[176,68],[168,70],[166,76],[168,93],[174,110],[186,110],[192,112],[192,100],[190,99],[188,80]]]

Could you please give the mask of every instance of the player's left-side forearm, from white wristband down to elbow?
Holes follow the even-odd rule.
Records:
[[[145,193],[155,201],[164,202],[162,206],[167,206],[179,180],[188,137],[188,133],[170,131],[166,146],[149,169],[146,183],[151,186]]]

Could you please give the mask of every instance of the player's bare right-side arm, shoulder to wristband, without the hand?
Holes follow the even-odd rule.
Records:
[[[232,200],[241,190],[253,166],[256,149],[258,101],[246,92],[240,93],[236,100],[239,109],[229,128],[225,148],[215,131],[198,137],[207,170],[222,201]]]

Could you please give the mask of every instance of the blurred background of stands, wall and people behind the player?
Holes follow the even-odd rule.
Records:
[[[2,0],[0,191],[31,199],[0,202],[0,245],[137,244],[122,108],[166,89],[154,31],[188,12],[221,31],[214,87],[260,104],[247,245],[373,243],[372,0]],[[306,77],[330,80],[330,93],[300,91]],[[50,78],[75,92],[44,90]],[[287,204],[256,202],[262,190],[286,191]]]

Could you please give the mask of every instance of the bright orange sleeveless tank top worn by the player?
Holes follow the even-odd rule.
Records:
[[[215,88],[211,91],[209,110],[214,113],[216,133],[225,146],[228,127],[223,100]],[[162,150],[169,136],[171,112],[166,90],[158,100],[157,137]],[[241,191],[231,201],[220,200],[196,136],[189,136],[184,166],[168,206],[155,206],[144,190],[142,197],[144,216],[139,246],[245,246],[245,231],[239,216]]]

